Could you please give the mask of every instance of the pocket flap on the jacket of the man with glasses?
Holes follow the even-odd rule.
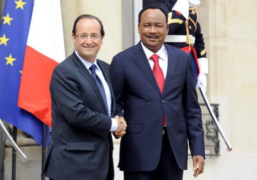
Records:
[[[95,143],[93,142],[68,142],[66,150],[84,150],[93,151],[95,149]]]

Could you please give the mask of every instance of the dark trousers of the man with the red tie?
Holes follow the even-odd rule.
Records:
[[[167,131],[163,135],[159,164],[152,171],[124,171],[124,180],[182,180],[183,170],[174,157]]]

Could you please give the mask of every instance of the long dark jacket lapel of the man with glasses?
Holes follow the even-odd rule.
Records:
[[[78,67],[78,71],[87,79],[87,81],[91,84],[91,86],[94,89],[94,92],[97,95],[98,100],[100,101],[102,108],[104,109],[104,112],[106,112],[105,104],[102,99],[101,93],[98,89],[98,86],[96,85],[96,82],[92,78],[91,74],[89,73],[88,69],[84,66],[84,64],[80,61],[80,59],[77,57],[75,52],[72,54],[72,59],[75,65]]]

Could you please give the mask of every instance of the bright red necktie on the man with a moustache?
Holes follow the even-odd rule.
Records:
[[[157,81],[157,84],[160,88],[161,93],[163,93],[163,87],[165,83],[163,71],[159,65],[159,56],[157,54],[153,54],[150,59],[154,61],[154,67],[153,67],[153,73],[155,75],[155,79]],[[165,116],[163,117],[163,125],[166,125],[166,119]]]

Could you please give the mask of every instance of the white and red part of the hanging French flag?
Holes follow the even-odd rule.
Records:
[[[24,57],[18,106],[51,126],[49,84],[53,69],[65,59],[59,0],[35,1]]]

